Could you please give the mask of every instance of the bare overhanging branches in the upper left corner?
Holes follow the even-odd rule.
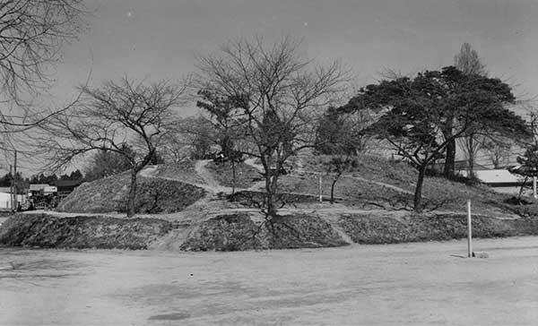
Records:
[[[82,0],[3,0],[0,2],[0,148],[53,115],[32,107],[46,90],[66,44],[86,28]]]

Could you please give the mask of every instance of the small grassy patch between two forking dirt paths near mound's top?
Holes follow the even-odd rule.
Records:
[[[230,162],[222,164],[215,164],[213,161],[209,162],[205,167],[212,172],[213,177],[221,185],[228,187],[233,186],[233,171],[231,169]],[[260,179],[261,175],[258,173],[255,167],[251,167],[245,163],[236,164],[236,184],[237,188],[249,188],[256,183],[257,179]]]

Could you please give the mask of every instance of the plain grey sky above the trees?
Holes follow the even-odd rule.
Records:
[[[538,95],[536,0],[87,0],[89,30],[65,48],[51,99],[60,104],[91,71],[91,84],[127,75],[179,79],[195,53],[258,34],[303,38],[310,57],[340,58],[375,82],[393,69],[416,73],[453,63],[469,42],[491,76]],[[187,114],[192,114],[187,109]]]

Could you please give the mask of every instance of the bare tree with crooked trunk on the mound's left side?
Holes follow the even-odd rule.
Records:
[[[152,161],[174,124],[173,108],[183,103],[185,90],[185,86],[169,82],[146,85],[127,78],[107,82],[99,89],[82,87],[81,103],[42,127],[49,135],[43,143],[48,149],[48,167],[64,167],[93,150],[126,157],[132,166],[127,200],[127,217],[132,217],[136,175]],[[126,150],[129,148],[135,151]]]

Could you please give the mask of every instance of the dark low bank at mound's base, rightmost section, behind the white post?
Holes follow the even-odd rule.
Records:
[[[442,241],[467,236],[463,214],[393,219],[362,214],[345,215],[338,224],[357,244],[395,244]],[[474,237],[538,235],[538,219],[496,219],[473,216]]]

